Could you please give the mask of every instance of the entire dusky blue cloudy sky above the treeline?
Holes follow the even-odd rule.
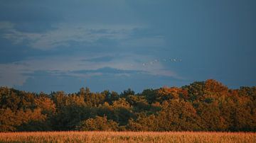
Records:
[[[256,86],[255,0],[0,0],[0,86]]]

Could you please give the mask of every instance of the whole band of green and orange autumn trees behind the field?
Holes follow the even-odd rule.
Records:
[[[50,130],[255,132],[256,86],[229,89],[209,79],[120,94],[0,88],[0,132]]]

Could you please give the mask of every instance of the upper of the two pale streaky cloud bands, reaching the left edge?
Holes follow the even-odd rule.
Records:
[[[26,45],[37,50],[53,50],[83,47],[107,48],[119,50],[139,50],[139,48],[163,47],[164,36],[149,33],[145,25],[86,25],[84,23],[58,23],[45,33],[23,32],[15,28],[14,23],[1,22],[2,38],[13,42],[14,45]],[[21,25],[22,26],[22,25]],[[140,30],[142,29],[142,30]],[[146,29],[146,30],[145,30]],[[134,36],[137,35],[137,36]],[[139,47],[139,48],[138,48]],[[145,49],[144,49],[145,50]]]

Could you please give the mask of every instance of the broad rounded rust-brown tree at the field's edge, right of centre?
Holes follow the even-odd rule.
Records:
[[[203,130],[200,118],[191,103],[183,100],[164,101],[162,110],[157,113],[159,130],[161,131],[192,131]]]

